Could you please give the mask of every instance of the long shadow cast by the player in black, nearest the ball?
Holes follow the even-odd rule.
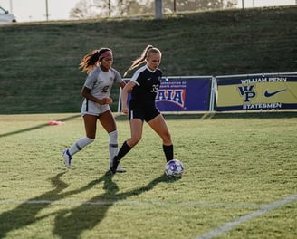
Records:
[[[91,230],[101,223],[110,206],[127,199],[129,196],[138,196],[147,192],[158,185],[159,182],[172,182],[173,180],[162,175],[153,179],[146,186],[118,194],[119,188],[112,181],[112,177],[113,175],[111,175],[110,172],[107,172],[105,176],[101,177],[104,181],[104,194],[94,196],[88,203],[82,203],[75,208],[62,210],[55,217],[53,234],[59,235],[60,238],[64,239],[81,238],[81,234],[84,231]],[[99,181],[101,181],[101,179],[99,179]],[[112,228],[110,228],[110,230],[112,230]]]

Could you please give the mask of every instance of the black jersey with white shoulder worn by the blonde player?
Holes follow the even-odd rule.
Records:
[[[151,71],[148,66],[139,68],[131,78],[136,85],[131,91],[130,109],[155,107],[155,100],[160,87],[162,72],[159,69]]]

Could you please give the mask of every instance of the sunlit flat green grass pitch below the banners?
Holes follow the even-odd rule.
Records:
[[[111,176],[101,127],[63,166],[62,149],[84,135],[79,114],[0,115],[0,238],[297,237],[296,113],[165,117],[181,179],[164,176],[148,125],[128,172]],[[129,122],[117,121],[121,144]]]

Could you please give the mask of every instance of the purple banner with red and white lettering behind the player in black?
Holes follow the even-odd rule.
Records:
[[[160,111],[197,111],[209,109],[211,77],[166,78],[156,98]]]

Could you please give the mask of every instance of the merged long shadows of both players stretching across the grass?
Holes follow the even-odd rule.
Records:
[[[91,228],[98,225],[105,217],[110,206],[115,203],[125,200],[129,196],[137,196],[151,190],[154,186],[158,185],[159,182],[174,182],[177,180],[161,175],[153,179],[146,186],[118,194],[119,188],[112,181],[113,175],[108,171],[102,177],[92,180],[86,186],[62,193],[62,191],[69,186],[61,180],[64,173],[65,172],[59,173],[50,178],[54,187],[53,190],[40,196],[35,196],[14,209],[6,211],[0,215],[0,238],[5,238],[11,231],[34,225],[37,221],[50,215],[55,215],[53,234],[65,239],[80,238],[85,230],[91,230]],[[101,182],[104,183],[103,188],[105,193],[94,196],[90,201],[82,202],[79,206],[71,209],[37,216],[44,208],[49,207],[54,203],[59,203],[59,200],[63,200],[67,196],[82,193]],[[6,203],[9,203],[9,201]],[[18,203],[18,201],[14,200],[13,203]]]

